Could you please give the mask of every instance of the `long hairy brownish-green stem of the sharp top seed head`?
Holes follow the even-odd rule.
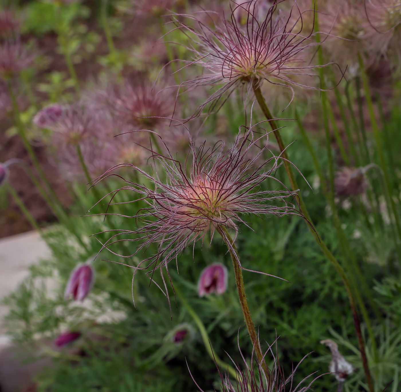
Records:
[[[295,179],[295,175],[294,175],[294,171],[292,170],[291,167],[291,163],[288,161],[288,156],[287,153],[285,151],[286,146],[284,144],[284,141],[281,137],[281,134],[278,130],[278,127],[273,119],[273,116],[271,115],[269,108],[266,105],[266,101],[263,98],[260,86],[259,86],[259,82],[257,80],[253,81],[252,84],[253,87],[253,92],[255,93],[257,102],[263,112],[263,114],[265,115],[266,119],[269,120],[271,129],[273,130],[273,133],[276,137],[277,140],[277,144],[279,145],[279,149],[282,153],[282,157],[284,158],[284,167],[286,168],[286,172],[288,175],[288,179],[290,180],[290,184],[291,187],[294,191],[298,190],[298,184],[297,181]],[[372,381],[372,376],[369,370],[369,366],[368,366],[368,360],[367,360],[367,356],[366,356],[366,352],[365,352],[365,344],[363,342],[363,337],[362,337],[362,332],[360,330],[360,322],[359,322],[359,318],[358,318],[358,313],[356,311],[356,304],[355,304],[355,300],[354,300],[354,294],[352,293],[352,289],[351,289],[351,285],[350,282],[348,280],[348,277],[346,276],[346,273],[344,271],[344,269],[341,267],[340,263],[338,263],[337,259],[334,257],[334,255],[330,252],[330,250],[327,248],[326,244],[322,241],[322,239],[320,239],[320,237],[318,236],[318,234],[316,233],[314,227],[312,226],[312,219],[309,215],[308,210],[306,209],[306,205],[302,199],[302,196],[298,194],[297,196],[299,204],[300,204],[300,208],[301,208],[301,212],[304,215],[304,217],[306,218],[307,222],[308,222],[308,227],[310,229],[310,232],[312,233],[314,239],[316,240],[316,242],[318,243],[318,245],[320,246],[320,249],[322,249],[323,253],[326,255],[326,257],[330,260],[330,262],[333,264],[334,268],[336,269],[338,275],[340,275],[342,281],[344,282],[346,291],[348,293],[348,299],[350,301],[350,306],[351,306],[351,310],[352,310],[352,317],[354,319],[354,325],[355,325],[355,330],[356,330],[356,336],[358,339],[358,345],[359,345],[359,350],[360,350],[360,354],[362,357],[362,363],[363,363],[363,368],[365,370],[365,375],[366,375],[366,379],[369,385],[369,390],[370,392],[374,392],[373,390],[373,381]]]

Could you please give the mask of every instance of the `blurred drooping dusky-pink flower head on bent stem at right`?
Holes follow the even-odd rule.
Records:
[[[344,167],[336,173],[334,189],[338,197],[360,195],[366,191],[367,187],[368,182],[362,167]]]

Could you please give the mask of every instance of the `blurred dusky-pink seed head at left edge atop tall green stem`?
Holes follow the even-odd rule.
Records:
[[[6,40],[0,44],[0,77],[11,79],[28,68],[34,54],[28,52],[20,40]]]

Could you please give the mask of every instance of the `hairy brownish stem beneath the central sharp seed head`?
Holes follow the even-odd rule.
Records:
[[[249,337],[251,338],[253,349],[255,350],[258,362],[259,364],[261,364],[267,380],[269,380],[270,372],[269,369],[267,368],[265,359],[262,354],[262,350],[259,344],[259,339],[255,330],[255,325],[253,324],[251,311],[249,310],[247,296],[245,294],[244,280],[242,277],[242,269],[239,263],[237,248],[235,247],[234,241],[231,238],[230,233],[223,225],[217,226],[217,231],[219,232],[221,237],[223,237],[230,251],[231,260],[233,261],[233,267],[234,267],[235,283],[237,284],[239,303],[241,304],[241,309],[244,315],[245,324],[247,326]]]

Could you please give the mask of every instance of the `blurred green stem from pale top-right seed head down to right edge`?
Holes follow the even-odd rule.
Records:
[[[358,60],[359,60],[359,68],[360,68],[363,88],[365,89],[365,99],[366,99],[366,103],[368,106],[369,116],[371,119],[371,125],[372,125],[372,129],[373,129],[373,136],[375,138],[375,142],[376,142],[376,146],[377,146],[377,153],[379,154],[380,166],[381,166],[381,169],[383,170],[383,174],[384,174],[384,180],[385,180],[385,185],[386,185],[384,187],[384,193],[385,193],[385,198],[386,198],[386,202],[387,202],[387,209],[389,211],[389,215],[393,216],[393,219],[395,220],[395,226],[397,227],[397,233],[398,233],[399,238],[401,239],[401,225],[400,225],[400,221],[399,221],[399,215],[398,215],[398,211],[397,211],[395,202],[394,202],[393,198],[391,197],[393,192],[392,192],[392,187],[391,187],[390,175],[389,175],[389,171],[387,169],[387,164],[386,164],[386,160],[385,160],[385,156],[384,156],[383,145],[382,145],[382,141],[381,141],[379,127],[378,127],[377,121],[376,121],[375,111],[373,109],[373,103],[372,103],[371,93],[370,93],[370,89],[369,89],[369,82],[368,82],[368,78],[365,73],[363,59],[362,59],[362,56],[360,55],[360,53],[358,53]],[[390,207],[391,207],[393,214],[390,213]],[[391,219],[391,220],[393,220],[393,219]],[[397,243],[396,243],[396,245],[397,245]]]

